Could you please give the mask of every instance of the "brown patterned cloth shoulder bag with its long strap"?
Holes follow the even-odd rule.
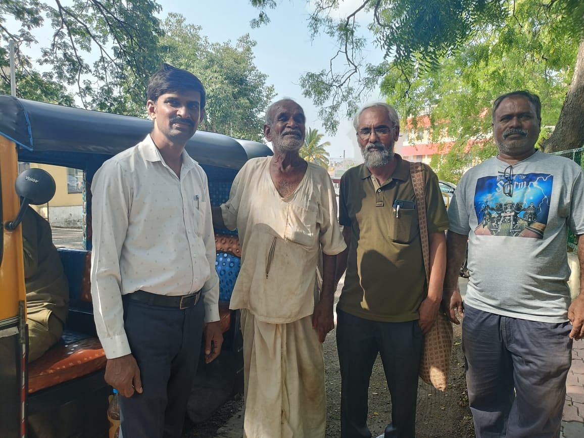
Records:
[[[418,208],[418,222],[420,225],[420,240],[422,241],[422,255],[426,269],[426,283],[430,284],[430,241],[426,217],[426,193],[422,175],[422,163],[410,163],[413,191]],[[452,323],[442,312],[438,311],[436,322],[430,332],[424,337],[422,360],[420,361],[419,376],[427,384],[440,391],[446,391],[450,372],[450,354],[452,352]]]

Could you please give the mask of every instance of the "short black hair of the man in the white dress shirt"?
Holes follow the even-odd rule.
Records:
[[[156,102],[166,93],[174,93],[181,90],[194,90],[201,93],[201,109],[206,102],[205,87],[195,75],[182,68],[172,67],[170,64],[162,64],[148,82],[147,99]]]

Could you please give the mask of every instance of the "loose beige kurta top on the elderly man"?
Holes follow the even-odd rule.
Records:
[[[270,159],[246,162],[221,211],[227,228],[237,227],[242,246],[230,308],[283,324],[312,315],[320,251],[335,255],[346,245],[325,169],[308,163],[296,190],[281,197],[270,177]]]

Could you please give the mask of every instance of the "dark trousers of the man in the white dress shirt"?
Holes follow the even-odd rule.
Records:
[[[186,310],[124,299],[124,328],[142,394],[120,397],[123,438],[180,438],[201,349],[204,304]]]

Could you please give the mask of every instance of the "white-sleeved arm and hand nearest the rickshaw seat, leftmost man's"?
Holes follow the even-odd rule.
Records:
[[[107,357],[105,381],[124,397],[142,392],[140,369],[124,330],[120,254],[128,227],[130,183],[116,162],[93,178],[91,295],[93,318]]]

